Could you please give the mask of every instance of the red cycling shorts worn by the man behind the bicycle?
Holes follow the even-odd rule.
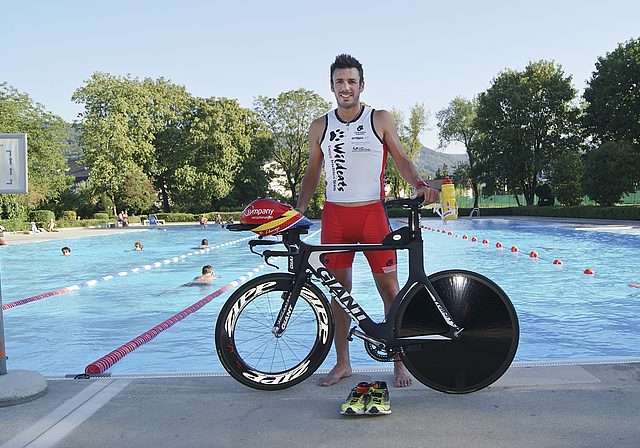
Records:
[[[359,207],[344,207],[325,202],[322,210],[322,244],[380,244],[391,232],[387,211],[382,202]],[[396,251],[364,252],[374,274],[396,270]],[[354,252],[327,254],[324,264],[329,269],[350,268]]]

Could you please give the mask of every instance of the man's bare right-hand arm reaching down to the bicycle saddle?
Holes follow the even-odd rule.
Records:
[[[420,173],[415,164],[411,161],[402,143],[398,137],[398,131],[396,129],[396,123],[393,121],[393,117],[386,110],[376,110],[373,116],[373,124],[376,132],[380,134],[380,138],[384,142],[389,154],[393,158],[398,171],[404,180],[406,180],[412,187],[416,188],[416,192],[411,195],[411,198],[415,198],[418,195],[423,196],[424,205],[438,202],[440,200],[440,194],[438,190],[429,188],[426,185],[418,185],[423,182]]]

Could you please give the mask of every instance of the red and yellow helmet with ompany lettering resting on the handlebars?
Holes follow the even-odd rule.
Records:
[[[256,199],[242,211],[240,222],[257,225],[252,232],[261,236],[273,235],[297,226],[312,225],[302,213],[275,199]]]

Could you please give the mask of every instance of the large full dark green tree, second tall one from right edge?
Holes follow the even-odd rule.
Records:
[[[532,205],[535,187],[556,154],[571,148],[576,108],[571,76],[553,62],[507,70],[480,94],[475,148],[485,181],[497,181]],[[519,200],[518,200],[519,203]]]

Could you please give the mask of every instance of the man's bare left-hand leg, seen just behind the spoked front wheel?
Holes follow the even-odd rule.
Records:
[[[340,284],[351,293],[351,268],[333,269],[333,276]],[[336,365],[331,371],[318,380],[319,386],[331,386],[336,384],[341,378],[351,376],[351,361],[349,360],[349,327],[351,318],[344,312],[340,304],[331,299],[331,309],[333,310],[333,320],[335,322],[335,333],[333,344],[336,348]]]

